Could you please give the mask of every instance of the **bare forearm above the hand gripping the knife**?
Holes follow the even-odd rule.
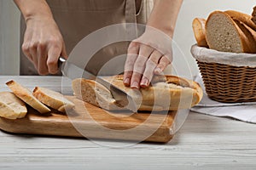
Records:
[[[49,5],[45,0],[14,0],[24,19],[30,20],[36,17],[53,19]]]

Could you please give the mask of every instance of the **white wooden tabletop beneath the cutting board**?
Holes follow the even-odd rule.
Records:
[[[7,76],[0,77],[0,91],[9,90],[5,82],[11,79],[61,91],[61,77]],[[256,168],[256,125],[190,112],[168,144],[132,145],[0,131],[1,170],[218,168]]]

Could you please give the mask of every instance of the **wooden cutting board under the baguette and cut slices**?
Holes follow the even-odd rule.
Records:
[[[28,107],[25,118],[0,118],[0,128],[9,133],[43,134],[87,139],[121,139],[168,142],[174,132],[176,111],[109,112],[67,96],[75,104],[73,111],[61,114],[52,111],[46,115]]]

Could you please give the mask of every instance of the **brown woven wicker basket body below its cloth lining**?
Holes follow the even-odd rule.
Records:
[[[224,103],[256,101],[256,66],[226,65],[201,61],[199,58],[196,60],[210,99]]]

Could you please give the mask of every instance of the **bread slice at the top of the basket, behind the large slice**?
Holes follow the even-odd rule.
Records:
[[[225,14],[229,14],[233,20],[238,20],[241,23],[246,24],[251,27],[254,31],[256,31],[256,25],[253,23],[252,16],[249,14],[244,14],[235,10],[227,10],[224,11]]]

